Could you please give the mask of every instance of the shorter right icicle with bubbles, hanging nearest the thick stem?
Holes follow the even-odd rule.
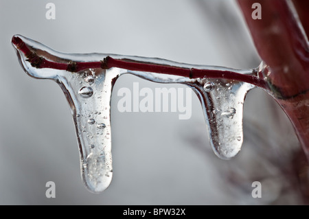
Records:
[[[215,154],[231,159],[242,147],[242,111],[252,84],[224,79],[204,78],[192,84],[199,95],[209,137]],[[190,85],[190,84],[189,84]]]

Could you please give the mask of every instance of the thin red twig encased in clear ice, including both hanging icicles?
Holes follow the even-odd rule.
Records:
[[[267,90],[258,69],[188,65],[159,58],[111,54],[63,54],[23,36],[12,43],[25,72],[56,81],[64,91],[78,136],[82,178],[91,192],[102,192],[113,175],[111,94],[117,78],[130,73],[160,83],[191,87],[209,125],[209,139],[221,159],[231,159],[243,142],[242,111],[247,92]]]

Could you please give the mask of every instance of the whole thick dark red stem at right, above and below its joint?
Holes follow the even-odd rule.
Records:
[[[252,19],[253,3],[262,6],[262,19]],[[238,0],[255,47],[270,71],[266,74],[276,100],[292,122],[309,161],[309,32],[308,1],[293,0],[305,33],[286,0]]]

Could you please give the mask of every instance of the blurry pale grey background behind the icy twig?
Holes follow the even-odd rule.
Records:
[[[56,20],[45,5],[56,4]],[[180,87],[135,76],[117,80],[112,99],[113,181],[92,194],[80,177],[76,133],[60,87],[27,76],[10,43],[21,34],[69,53],[159,57],[191,64],[253,68],[260,63],[233,0],[0,1],[1,205],[301,204],[293,169],[299,144],[288,119],[264,91],[244,104],[244,145],[231,161],[209,146],[192,93],[192,118],[178,113],[119,113],[117,90]],[[45,183],[56,183],[46,198]],[[262,183],[252,198],[251,183]]]

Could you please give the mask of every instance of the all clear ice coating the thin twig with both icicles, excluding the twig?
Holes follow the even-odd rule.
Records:
[[[29,38],[16,36],[21,38],[25,45],[36,52],[38,56],[54,62],[100,62],[106,56],[110,56],[115,59],[126,58],[174,67],[234,71],[247,74],[252,72],[251,70],[238,71],[222,67],[187,65],[158,58],[114,54],[64,54]],[[115,67],[111,69],[86,69],[76,73],[49,68],[37,69],[30,65],[21,51],[16,49],[16,53],[27,74],[34,78],[54,80],[65,93],[76,126],[82,180],[91,192],[104,191],[110,185],[113,176],[111,95],[117,78],[124,73],[130,73],[152,82],[179,83],[192,87],[203,106],[214,152],[221,159],[231,159],[241,149],[243,104],[247,92],[254,87],[252,84],[214,78],[192,79]]]

